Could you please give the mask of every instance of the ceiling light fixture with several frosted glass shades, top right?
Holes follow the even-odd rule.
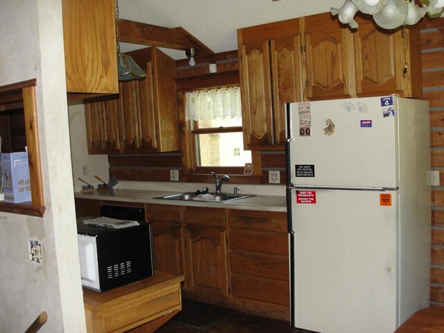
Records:
[[[330,8],[339,21],[357,28],[354,17],[358,11],[373,15],[373,20],[381,28],[391,30],[402,25],[417,24],[427,12],[434,15],[444,8],[444,0],[429,0],[427,7],[416,5],[414,0],[345,0],[341,8]]]

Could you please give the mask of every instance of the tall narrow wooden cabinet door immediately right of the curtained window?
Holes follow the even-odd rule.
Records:
[[[240,45],[244,144],[247,149],[273,144],[268,41]]]

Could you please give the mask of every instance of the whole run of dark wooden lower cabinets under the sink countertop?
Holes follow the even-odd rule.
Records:
[[[153,227],[155,269],[184,275],[185,297],[289,320],[285,212],[140,205]]]

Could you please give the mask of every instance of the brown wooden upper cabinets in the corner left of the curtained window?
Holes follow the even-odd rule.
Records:
[[[120,82],[119,95],[85,104],[90,154],[180,151],[176,63],[155,47],[134,52],[146,78]],[[112,125],[104,123],[110,117]]]

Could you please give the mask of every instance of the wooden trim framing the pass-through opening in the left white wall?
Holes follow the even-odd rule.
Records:
[[[8,110],[9,103],[14,103],[14,105],[17,105],[17,103],[23,103],[32,196],[31,203],[6,203],[1,201],[0,212],[43,217],[45,207],[42,167],[40,165],[40,144],[37,132],[36,85],[37,80],[33,79],[0,87],[0,111]],[[7,101],[10,96],[15,96],[15,100]]]

